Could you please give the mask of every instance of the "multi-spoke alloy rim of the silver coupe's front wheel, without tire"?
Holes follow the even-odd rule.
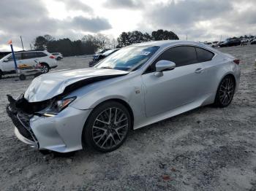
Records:
[[[128,127],[128,117],[124,111],[116,107],[105,109],[94,120],[93,141],[101,149],[112,149],[125,139]]]

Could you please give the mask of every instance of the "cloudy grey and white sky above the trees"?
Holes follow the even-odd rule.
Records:
[[[1,0],[0,51],[26,49],[36,36],[80,39],[102,33],[116,38],[122,31],[151,33],[159,28],[180,39],[214,41],[256,35],[256,0]]]

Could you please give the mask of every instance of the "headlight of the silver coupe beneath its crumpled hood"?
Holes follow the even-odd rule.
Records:
[[[53,104],[45,110],[44,116],[45,117],[53,117],[56,114],[59,114],[63,109],[65,109],[69,104],[75,101],[76,97],[72,98],[64,98],[61,100],[53,101]]]

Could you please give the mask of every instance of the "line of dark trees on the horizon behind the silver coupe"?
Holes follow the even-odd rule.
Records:
[[[140,31],[123,32],[118,39],[110,39],[104,34],[85,35],[82,39],[75,41],[69,38],[55,39],[53,36],[46,34],[37,36],[34,39],[34,50],[48,50],[48,52],[61,52],[64,56],[93,54],[97,50],[106,48],[125,47],[130,44],[158,41],[167,39],[178,39],[178,36],[172,31],[159,29],[151,34]]]

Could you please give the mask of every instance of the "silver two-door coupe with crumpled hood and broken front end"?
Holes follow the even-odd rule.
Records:
[[[18,98],[7,95],[15,135],[39,150],[110,152],[129,130],[199,106],[225,107],[238,90],[239,60],[205,44],[133,44],[91,69],[35,78]]]

